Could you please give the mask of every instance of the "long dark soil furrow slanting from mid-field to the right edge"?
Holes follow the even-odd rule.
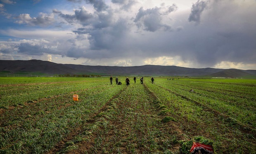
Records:
[[[215,109],[212,109],[212,108],[210,108],[210,107],[208,107],[208,106],[206,106],[204,104],[201,104],[200,102],[197,102],[196,100],[193,100],[190,97],[181,95],[181,94],[179,94],[177,92],[174,92],[172,90],[164,88],[164,87],[162,87],[160,85],[157,85],[157,86],[159,86],[160,88],[163,88],[163,89],[165,89],[165,90],[167,90],[167,91],[169,91],[169,92],[171,92],[171,93],[173,93],[173,94],[175,94],[175,95],[177,95],[179,97],[182,97],[183,99],[185,99],[187,101],[193,102],[197,106],[202,107],[204,109],[204,111],[213,112],[214,116],[220,117],[224,121],[232,122],[232,123],[235,123],[235,124],[239,125],[240,126],[239,130],[241,130],[243,133],[252,134],[252,135],[254,135],[254,137],[256,137],[256,129],[255,128],[252,128],[251,126],[248,126],[248,125],[244,125],[243,123],[237,121],[236,119],[234,119],[234,118],[232,118],[232,117],[230,117],[230,116],[228,116],[226,114],[223,114],[223,113],[221,113],[221,112],[219,112],[219,111],[217,111]],[[222,123],[222,122],[220,121],[220,123]]]

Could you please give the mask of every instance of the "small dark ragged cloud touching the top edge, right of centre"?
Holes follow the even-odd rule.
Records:
[[[198,0],[195,4],[193,4],[188,20],[200,23],[201,13],[206,9],[208,3],[209,1]]]

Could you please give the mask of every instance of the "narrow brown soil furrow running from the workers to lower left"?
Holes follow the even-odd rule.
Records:
[[[114,100],[115,98],[117,98],[126,88],[120,90],[120,92],[118,94],[114,95],[114,97],[112,97],[101,109],[99,109],[99,111],[90,115],[89,118],[85,120],[85,123],[82,123],[81,126],[77,127],[76,129],[73,129],[73,131],[71,131],[65,139],[60,141],[57,145],[55,145],[54,148],[52,148],[49,152],[47,152],[45,154],[55,154],[55,153],[61,152],[64,149],[66,143],[72,141],[77,135],[79,135],[85,131],[83,126],[94,123],[95,117],[97,117],[97,115],[99,115],[102,111],[106,110],[107,107],[109,106],[110,102],[112,100]]]

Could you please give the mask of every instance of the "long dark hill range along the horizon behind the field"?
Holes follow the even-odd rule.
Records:
[[[179,66],[89,66],[57,64],[42,60],[0,60],[3,73],[94,74],[105,76],[211,76],[224,78],[256,78],[256,70],[186,68]]]

